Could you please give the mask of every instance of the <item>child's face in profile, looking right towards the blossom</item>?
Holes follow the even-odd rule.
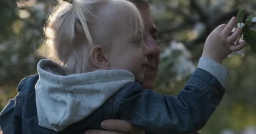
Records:
[[[109,65],[114,69],[128,70],[136,81],[142,81],[150,49],[144,44],[143,35],[122,32],[109,50]]]

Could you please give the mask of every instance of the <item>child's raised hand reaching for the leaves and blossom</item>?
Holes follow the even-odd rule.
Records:
[[[223,59],[230,53],[243,49],[246,44],[245,41],[240,41],[239,44],[235,45],[235,41],[242,33],[242,28],[237,28],[235,33],[229,36],[236,22],[237,18],[232,17],[227,25],[222,24],[210,33],[205,41],[203,57],[211,58],[222,64]]]

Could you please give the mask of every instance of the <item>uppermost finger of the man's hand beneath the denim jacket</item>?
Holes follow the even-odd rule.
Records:
[[[133,126],[124,120],[105,120],[101,122],[101,127],[107,130],[122,131],[127,133],[138,133],[141,131],[136,126]]]

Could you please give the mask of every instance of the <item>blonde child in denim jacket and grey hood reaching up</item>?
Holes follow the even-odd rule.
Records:
[[[177,97],[141,88],[147,55],[139,10],[126,0],[59,0],[45,27],[49,58],[38,75],[24,78],[14,106],[14,133],[73,134],[100,129],[105,119],[123,119],[157,134],[201,129],[224,95],[241,28],[236,18],[205,42],[197,70]],[[3,117],[1,117],[3,118]],[[7,117],[6,117],[7,118]]]

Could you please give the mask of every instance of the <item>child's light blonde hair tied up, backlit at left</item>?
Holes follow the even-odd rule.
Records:
[[[128,28],[126,33],[136,33],[136,36],[144,33],[141,14],[131,2],[65,1],[58,0],[48,17],[44,33],[45,44],[49,48],[48,58],[63,65],[68,74],[86,72],[91,48],[94,45],[109,48],[125,28]]]

